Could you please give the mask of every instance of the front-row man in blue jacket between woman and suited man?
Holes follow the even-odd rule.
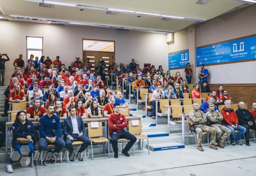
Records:
[[[60,137],[61,123],[60,117],[54,114],[53,105],[49,104],[46,106],[47,114],[39,119],[39,132],[41,139],[39,140],[39,150],[42,152],[46,151],[47,155],[44,160],[44,165],[56,163],[57,158],[53,153],[59,153],[65,147],[64,140]],[[55,131],[56,130],[56,131]],[[55,131],[55,132],[54,132]],[[47,146],[49,144],[56,145],[54,151],[51,151]],[[50,153],[50,155],[48,154]]]

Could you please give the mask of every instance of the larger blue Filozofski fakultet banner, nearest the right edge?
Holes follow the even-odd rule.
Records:
[[[196,49],[196,65],[216,64],[256,58],[256,36]]]

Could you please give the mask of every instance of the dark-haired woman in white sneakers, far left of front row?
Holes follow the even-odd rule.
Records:
[[[25,158],[25,163],[24,166],[28,166],[31,160],[31,156],[34,151],[34,146],[33,146],[33,139],[36,136],[36,130],[33,125],[33,123],[26,118],[26,113],[25,111],[19,111],[16,115],[15,122],[12,124],[12,147],[15,148],[15,151],[18,151],[20,153],[20,148],[23,145],[28,145],[28,148],[30,149],[28,153],[28,157]],[[17,138],[24,138],[18,139]],[[25,143],[19,143],[19,141],[22,140]],[[9,160],[9,163],[6,166],[6,172],[7,173],[12,173],[12,164],[13,161],[12,159]]]

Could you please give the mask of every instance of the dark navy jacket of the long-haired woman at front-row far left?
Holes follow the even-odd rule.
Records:
[[[28,135],[33,139],[36,136],[35,127],[30,120],[26,120],[24,125],[20,122],[14,122],[12,124],[12,133],[12,140],[16,140],[17,138],[27,138]]]

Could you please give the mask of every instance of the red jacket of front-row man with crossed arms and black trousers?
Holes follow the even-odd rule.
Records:
[[[124,122],[124,124],[123,124]],[[116,126],[114,126],[116,125]],[[115,115],[114,113],[110,114],[108,117],[108,127],[110,130],[110,133],[113,131],[122,131],[125,127],[127,127],[127,121],[125,119],[125,116],[123,114]]]

